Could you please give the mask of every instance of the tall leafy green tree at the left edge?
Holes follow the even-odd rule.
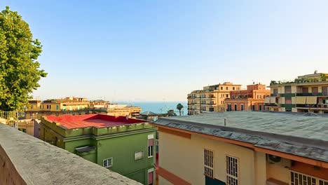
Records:
[[[42,52],[27,22],[8,6],[0,13],[0,109],[22,109],[46,72],[39,69]]]

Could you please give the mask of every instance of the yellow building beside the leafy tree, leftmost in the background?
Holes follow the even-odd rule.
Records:
[[[42,116],[62,114],[86,114],[90,102],[81,97],[65,97],[63,99],[29,100],[25,110],[25,118],[41,119]]]

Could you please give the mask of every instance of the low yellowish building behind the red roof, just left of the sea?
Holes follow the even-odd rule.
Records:
[[[104,100],[91,102],[89,111],[92,114],[107,114],[109,116],[129,116],[136,118],[139,116],[141,107],[129,106],[128,104],[112,104]]]

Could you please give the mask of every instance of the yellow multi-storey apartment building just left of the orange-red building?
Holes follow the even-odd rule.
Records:
[[[223,84],[205,86],[203,90],[193,90],[187,97],[188,115],[224,111],[224,100],[230,97],[231,91],[240,89],[241,85],[225,82]]]

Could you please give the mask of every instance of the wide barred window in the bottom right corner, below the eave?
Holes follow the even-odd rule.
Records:
[[[328,185],[328,181],[323,179],[317,179],[307,174],[301,174],[299,172],[290,172],[290,184],[291,185]]]

